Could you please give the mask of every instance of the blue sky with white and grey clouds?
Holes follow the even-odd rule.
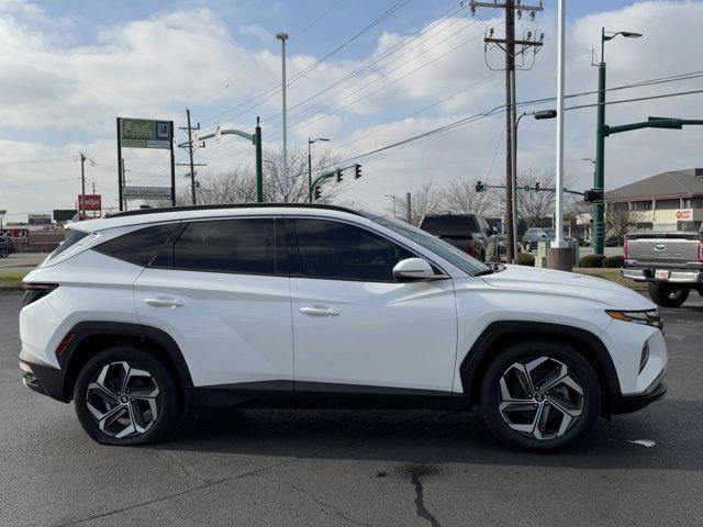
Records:
[[[525,57],[517,72],[520,101],[556,93],[557,1],[546,0],[544,8],[535,21],[525,16],[517,24],[518,34],[544,33],[544,47]],[[596,88],[591,49],[599,47],[601,26],[645,34],[607,43],[607,86],[618,88],[609,92],[610,101],[703,88],[703,77],[695,77],[703,72],[696,36],[703,2],[569,0],[567,10],[567,93]],[[290,36],[289,144],[305,147],[309,136],[325,136],[335,154],[354,162],[503,104],[503,72],[490,69],[503,57],[498,49],[484,53],[482,42],[490,27],[502,35],[500,10],[472,15],[468,2],[449,0],[0,0],[0,209],[8,210],[8,221],[18,221],[27,212],[75,208],[79,152],[93,160],[87,165],[88,190],[94,182],[103,204],[116,206],[118,115],[183,126],[188,106],[203,131],[223,124],[248,132],[260,116],[265,148],[278,148],[279,31]],[[682,74],[694,75],[641,86]],[[639,86],[626,88],[633,83]],[[593,94],[574,97],[567,106],[594,101]],[[606,119],[703,119],[702,102],[703,93],[693,93],[616,103],[607,106]],[[498,112],[360,157],[364,177],[338,200],[383,210],[386,195],[427,182],[440,187],[466,178],[498,184],[504,180],[504,121]],[[578,190],[591,188],[592,165],[583,158],[593,157],[595,109],[570,110],[565,123],[567,176]],[[555,133],[554,121],[523,119],[518,166],[553,169]],[[702,139],[702,127],[609,138],[606,188],[703,166]],[[131,184],[169,183],[163,150],[129,149],[124,158]],[[186,159],[179,150],[177,160]],[[226,137],[199,149],[196,160],[208,162],[199,171],[205,179],[253,165],[254,149]],[[188,184],[186,170],[178,168],[179,186]]]

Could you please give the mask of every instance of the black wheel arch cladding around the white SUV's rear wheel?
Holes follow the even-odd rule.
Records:
[[[157,355],[175,375],[176,384],[185,395],[192,388],[188,365],[176,341],[163,329],[141,324],[122,322],[81,322],[69,332],[72,334],[68,346],[57,354],[64,371],[62,400],[72,399],[74,386],[82,367],[98,352],[118,344],[138,344]]]

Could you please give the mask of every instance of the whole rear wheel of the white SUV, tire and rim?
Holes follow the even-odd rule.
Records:
[[[146,349],[120,345],[90,359],[74,389],[78,419],[103,445],[165,439],[182,413],[174,378]]]

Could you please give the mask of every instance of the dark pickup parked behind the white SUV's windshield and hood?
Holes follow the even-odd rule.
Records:
[[[420,228],[481,261],[486,261],[486,247],[493,234],[480,214],[427,214]]]

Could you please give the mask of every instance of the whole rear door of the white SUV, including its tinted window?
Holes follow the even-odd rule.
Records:
[[[292,389],[282,233],[272,217],[190,222],[135,281],[140,321],[176,340],[194,385],[283,380]]]

